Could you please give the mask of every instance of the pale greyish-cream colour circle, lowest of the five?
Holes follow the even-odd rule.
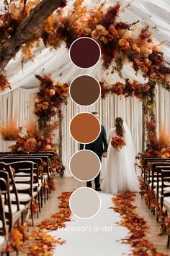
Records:
[[[76,189],[69,200],[69,207],[78,218],[94,217],[99,212],[100,206],[99,194],[89,187]]]

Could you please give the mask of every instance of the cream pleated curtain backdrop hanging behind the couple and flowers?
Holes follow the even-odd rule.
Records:
[[[19,127],[24,127],[27,121],[34,119],[34,93],[35,90],[28,91],[17,89],[11,93],[0,96],[0,121],[6,124],[11,117],[16,119]],[[157,129],[166,126],[170,132],[170,93],[158,88],[156,93],[156,120]],[[70,98],[68,104],[63,106],[63,163],[66,166],[66,176],[69,176],[68,165],[71,155],[79,149],[77,142],[74,142],[69,133],[69,123],[75,114],[82,111],[98,111],[100,121],[107,130],[112,128],[115,117],[121,116],[130,127],[135,145],[135,153],[142,150],[142,106],[135,98],[124,98],[121,96],[109,95],[104,100],[99,99],[97,103],[89,107],[77,106]],[[58,142],[58,132],[55,134],[55,142]],[[3,143],[0,140],[0,151]],[[102,173],[104,172],[105,159],[102,163]]]

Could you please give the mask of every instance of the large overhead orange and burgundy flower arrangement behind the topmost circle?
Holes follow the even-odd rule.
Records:
[[[136,28],[138,22],[118,21],[120,3],[107,8],[104,4],[89,9],[83,0],[76,0],[73,9],[61,9],[58,17],[51,15],[42,27],[42,40],[45,46],[61,45],[64,41],[68,48],[74,40],[87,36],[97,40],[102,49],[102,61],[106,69],[115,61],[115,69],[121,74],[123,64],[133,64],[143,77],[156,81],[170,90],[170,69],[166,67],[161,43],[153,43],[153,34],[147,25]]]

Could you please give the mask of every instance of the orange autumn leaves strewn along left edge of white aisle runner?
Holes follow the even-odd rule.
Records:
[[[56,244],[64,244],[66,241],[61,238],[55,239],[47,231],[57,230],[58,227],[65,227],[67,221],[71,221],[71,210],[69,198],[72,192],[63,192],[60,200],[58,213],[53,214],[47,221],[42,221],[31,234],[26,234],[27,226],[20,223],[12,229],[6,252],[27,252],[29,256],[52,256]]]

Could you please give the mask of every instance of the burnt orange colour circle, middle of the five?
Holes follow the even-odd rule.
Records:
[[[74,140],[79,143],[91,143],[100,133],[99,119],[93,114],[84,112],[73,117],[70,132]]]

